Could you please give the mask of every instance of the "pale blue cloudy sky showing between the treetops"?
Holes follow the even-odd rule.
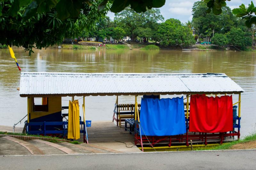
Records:
[[[196,1],[198,0],[166,0],[164,6],[159,9],[164,17],[164,20],[175,18],[185,23],[188,20],[192,20],[192,6]],[[251,4],[251,0],[231,0],[226,2],[231,10],[238,8],[241,4],[245,4],[245,6]],[[256,6],[256,0],[252,0],[252,2]],[[111,19],[114,19],[115,14],[109,12],[108,16]]]

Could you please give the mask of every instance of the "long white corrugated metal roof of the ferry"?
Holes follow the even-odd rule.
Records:
[[[20,96],[237,93],[223,73],[21,73]]]

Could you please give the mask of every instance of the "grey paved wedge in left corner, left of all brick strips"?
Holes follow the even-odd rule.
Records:
[[[31,153],[24,146],[0,137],[0,156],[5,155],[31,155]]]

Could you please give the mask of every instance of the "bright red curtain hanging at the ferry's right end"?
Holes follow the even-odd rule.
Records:
[[[190,132],[228,132],[233,130],[232,96],[191,95]]]

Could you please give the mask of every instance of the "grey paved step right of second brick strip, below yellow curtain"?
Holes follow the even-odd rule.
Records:
[[[68,148],[70,148],[72,150],[79,151],[79,153],[111,153],[111,152],[106,151],[106,150],[93,148],[93,147],[90,147],[88,145],[86,146],[86,145],[84,145],[84,143],[82,143],[82,144],[73,144],[73,143],[63,142],[63,143],[60,143],[60,145],[67,146]]]

